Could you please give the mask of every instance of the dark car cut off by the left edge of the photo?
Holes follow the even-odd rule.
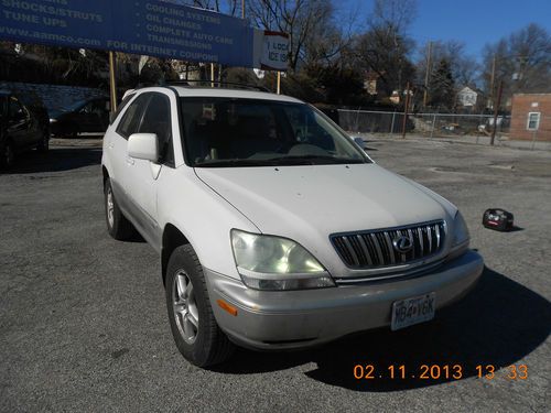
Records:
[[[15,154],[50,145],[47,112],[35,95],[0,90],[0,166],[13,165]]]

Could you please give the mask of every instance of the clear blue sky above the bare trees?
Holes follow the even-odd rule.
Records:
[[[365,24],[372,0],[341,0],[344,14],[357,13],[358,29]],[[465,51],[479,58],[484,45],[495,43],[529,23],[551,32],[551,0],[417,0],[417,17],[409,29],[418,46],[429,41],[458,40]]]

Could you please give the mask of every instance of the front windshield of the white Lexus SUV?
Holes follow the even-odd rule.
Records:
[[[184,148],[195,167],[368,163],[344,132],[304,104],[182,98]]]

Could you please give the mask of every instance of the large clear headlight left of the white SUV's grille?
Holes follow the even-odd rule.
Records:
[[[231,248],[241,280],[257,290],[302,290],[334,286],[323,265],[287,238],[231,230]]]

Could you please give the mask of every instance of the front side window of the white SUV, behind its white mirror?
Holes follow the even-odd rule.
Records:
[[[163,163],[174,163],[172,145],[171,104],[163,94],[151,94],[151,100],[145,108],[139,133],[155,133],[159,139],[159,151]]]

